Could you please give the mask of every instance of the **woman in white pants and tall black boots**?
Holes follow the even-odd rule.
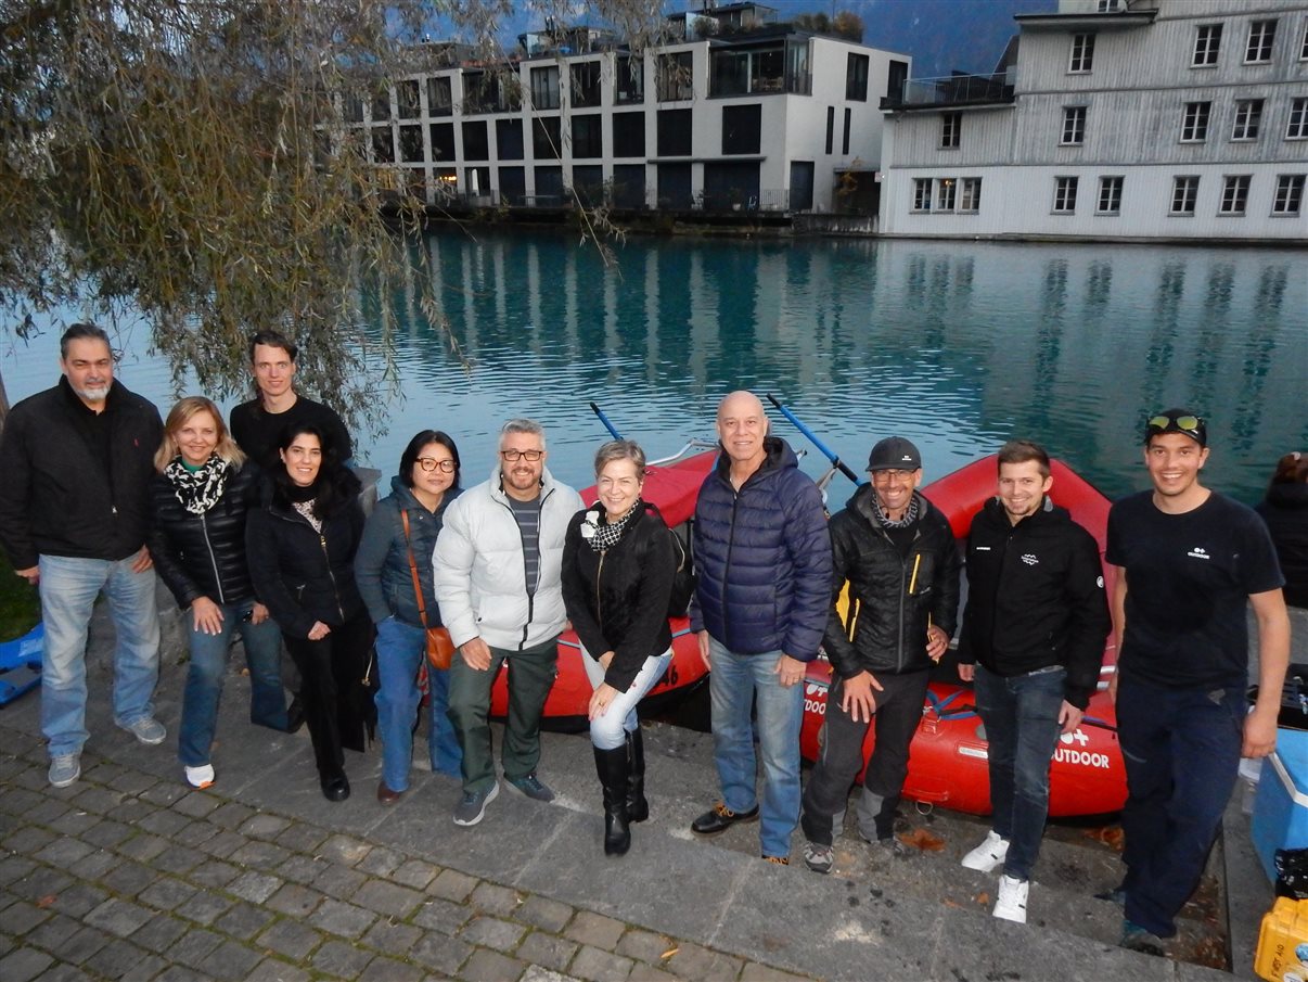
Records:
[[[645,452],[613,440],[595,454],[598,501],[573,516],[564,542],[568,617],[595,694],[590,741],[604,790],[604,852],[630,847],[645,821],[645,750],[636,704],[672,659],[667,605],[676,558],[659,513],[641,500]]]

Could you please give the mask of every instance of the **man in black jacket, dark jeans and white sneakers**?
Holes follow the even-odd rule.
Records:
[[[1031,868],[1049,812],[1049,758],[1099,685],[1110,628],[1099,546],[1049,500],[1049,454],[999,450],[999,494],[972,520],[959,676],[976,686],[989,748],[994,825],[963,858],[1003,865],[994,917],[1025,923]]]

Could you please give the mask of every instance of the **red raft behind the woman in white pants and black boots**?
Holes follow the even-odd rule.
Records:
[[[687,450],[709,444],[688,444]],[[683,450],[683,454],[685,450]],[[695,515],[695,499],[700,484],[717,460],[717,450],[702,450],[688,457],[678,454],[666,464],[651,464],[645,471],[642,498],[658,505],[663,520],[685,539],[685,524]],[[582,500],[595,503],[595,488],[581,492]],[[672,661],[667,672],[650,690],[646,699],[680,694],[708,674],[704,659],[700,657],[700,644],[691,634],[691,622],[684,617],[672,618]],[[582,666],[581,646],[574,631],[564,631],[559,638],[559,677],[555,680],[549,698],[545,699],[545,718],[552,729],[579,729],[586,724],[591,687]],[[509,712],[509,690],[504,669],[490,690],[490,715],[506,716]]]

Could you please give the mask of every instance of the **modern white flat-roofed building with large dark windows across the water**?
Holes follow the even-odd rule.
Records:
[[[348,127],[429,203],[875,213],[878,103],[909,59],[778,24],[760,4],[667,21],[632,54],[602,31],[523,35],[502,64],[408,79]],[[841,207],[844,206],[844,207]]]

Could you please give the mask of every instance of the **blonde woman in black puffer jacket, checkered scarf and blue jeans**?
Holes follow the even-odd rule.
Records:
[[[217,406],[198,395],[169,412],[154,467],[150,556],[188,611],[191,663],[178,757],[187,783],[204,788],[215,779],[209,749],[235,631],[250,665],[250,721],[286,728],[281,634],[255,598],[246,563],[246,513],[259,507],[262,474],[232,440]]]

